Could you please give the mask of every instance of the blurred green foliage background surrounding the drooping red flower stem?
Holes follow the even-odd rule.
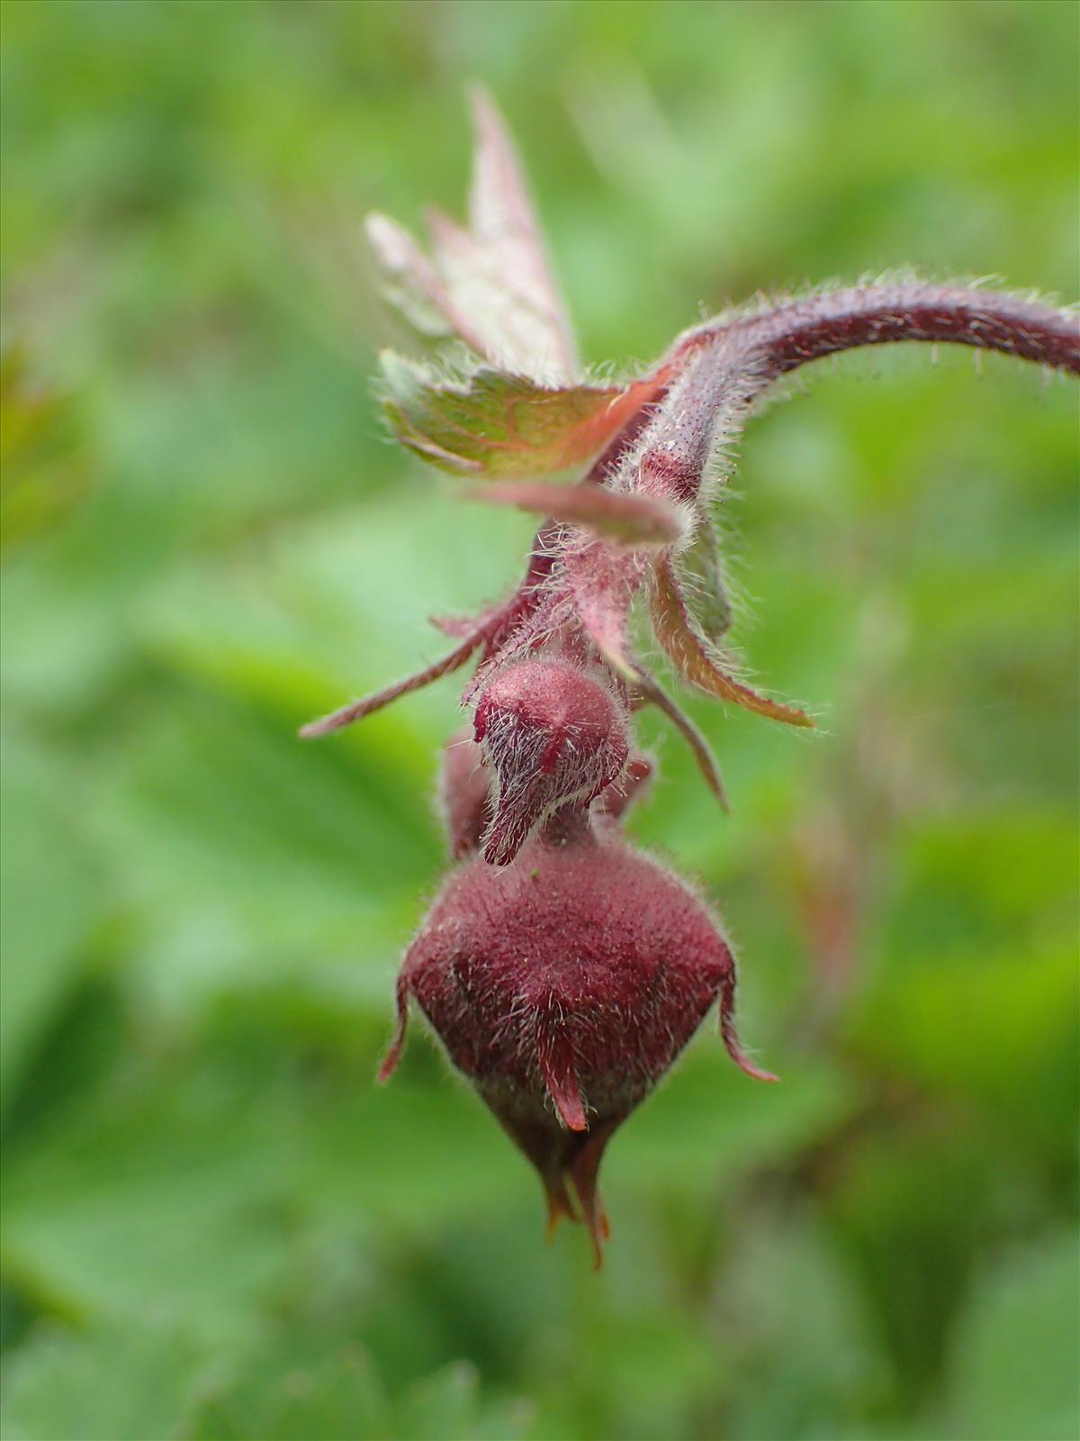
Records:
[[[416,1027],[441,653],[526,517],[395,451],[361,244],[459,213],[482,78],[589,362],[912,264],[1076,291],[1058,3],[3,9],[4,1434],[1077,1434],[1076,401],[845,357],[746,435],[744,654],[804,736],[654,723],[636,834],[742,954],[616,1138],[615,1235]]]

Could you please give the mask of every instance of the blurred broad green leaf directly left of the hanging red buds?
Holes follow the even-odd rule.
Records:
[[[94,787],[145,994],[176,1014],[285,976],[341,1004],[389,994],[439,856],[395,762],[305,745],[281,712],[209,686],[163,692]]]

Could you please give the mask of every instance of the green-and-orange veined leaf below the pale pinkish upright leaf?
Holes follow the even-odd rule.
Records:
[[[655,380],[549,389],[481,369],[461,383],[383,352],[386,414],[402,445],[478,480],[534,478],[595,455],[651,398]]]

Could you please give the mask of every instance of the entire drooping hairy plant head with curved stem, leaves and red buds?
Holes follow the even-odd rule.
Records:
[[[482,92],[468,225],[431,212],[431,254],[384,216],[369,238],[392,303],[438,366],[384,352],[383,401],[408,450],[471,500],[541,517],[524,576],[477,617],[436,620],[435,664],[311,722],[325,735],[475,661],[472,726],[451,742],[444,814],[459,862],[397,984],[400,1050],[418,1001],[449,1059],[543,1179],[552,1219],[608,1223],[596,1169],[612,1131],[719,1001],[729,1052],[734,963],[708,909],[629,849],[619,817],[652,772],[632,718],[657,706],[726,806],[703,735],[635,653],[648,599],[675,676],[793,726],[811,716],[737,674],[711,506],[760,396],[858,346],[932,342],[1080,373],[1076,317],[984,288],[903,278],[719,316],[622,385],[580,372],[517,157]]]

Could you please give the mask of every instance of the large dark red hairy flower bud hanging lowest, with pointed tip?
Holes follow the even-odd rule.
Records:
[[[513,866],[474,855],[448,879],[405,957],[397,1063],[409,999],[458,1071],[536,1166],[550,1225],[582,1221],[596,1264],[608,1219],[596,1173],[612,1133],[714,1001],[732,1058],[734,958],[703,901],[613,821],[570,811]]]

